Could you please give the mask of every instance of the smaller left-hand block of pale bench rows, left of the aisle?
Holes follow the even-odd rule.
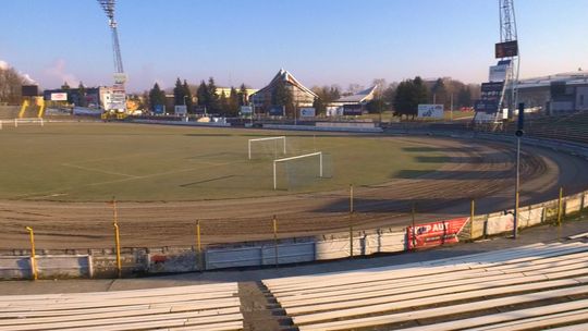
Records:
[[[242,330],[236,283],[0,296],[0,330]]]

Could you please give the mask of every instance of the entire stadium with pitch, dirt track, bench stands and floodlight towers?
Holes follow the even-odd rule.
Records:
[[[475,112],[388,123],[285,70],[238,117],[134,113],[98,2],[99,112],[0,105],[0,330],[588,329],[586,78],[518,79],[512,1]]]

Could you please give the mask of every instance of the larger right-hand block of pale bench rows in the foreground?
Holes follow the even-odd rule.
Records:
[[[586,267],[586,243],[534,244],[264,284],[302,331],[585,330]]]

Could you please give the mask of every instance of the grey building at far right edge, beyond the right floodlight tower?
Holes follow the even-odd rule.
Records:
[[[588,72],[520,79],[517,100],[548,114],[588,111]]]

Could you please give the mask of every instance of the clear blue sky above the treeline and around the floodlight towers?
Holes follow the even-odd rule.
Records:
[[[109,85],[107,19],[95,0],[0,0],[0,61],[52,88]],[[522,77],[588,70],[587,0],[515,0]],[[262,87],[420,75],[487,79],[498,0],[118,0],[131,90],[175,77]]]

